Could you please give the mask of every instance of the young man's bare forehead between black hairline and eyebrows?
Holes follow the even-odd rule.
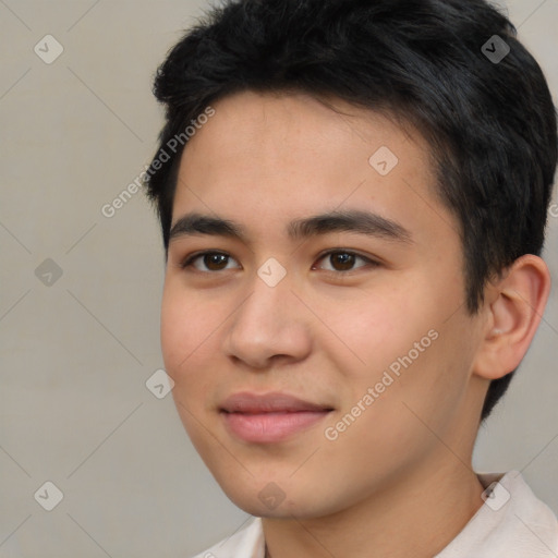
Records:
[[[447,228],[422,136],[378,112],[326,102],[255,92],[216,102],[183,151],[173,223],[189,211],[213,213],[286,231],[296,217],[374,209],[411,229],[418,207],[432,214],[423,226]]]

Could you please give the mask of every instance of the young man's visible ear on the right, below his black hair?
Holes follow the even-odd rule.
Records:
[[[485,290],[484,337],[473,374],[497,379],[514,371],[533,340],[543,317],[550,274],[542,258],[526,254]]]

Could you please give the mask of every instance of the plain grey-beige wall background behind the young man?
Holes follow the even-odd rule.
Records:
[[[142,192],[101,213],[150,160],[162,123],[153,73],[207,5],[0,0],[0,558],[187,557],[247,518],[206,471],[171,396],[145,385],[162,367],[155,214]],[[556,102],[558,0],[506,5]],[[63,48],[51,63],[34,51],[60,48],[46,35]],[[557,347],[553,287],[475,454],[478,471],[521,470],[555,511]],[[63,494],[52,511],[34,497],[46,482]]]

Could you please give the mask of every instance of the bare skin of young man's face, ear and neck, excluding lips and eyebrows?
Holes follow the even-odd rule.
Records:
[[[173,219],[198,211],[238,221],[247,242],[177,235],[161,312],[174,401],[202,459],[229,498],[263,517],[274,558],[432,557],[482,506],[471,466],[490,379],[521,361],[543,314],[549,276],[523,256],[464,306],[459,226],[436,197],[428,145],[414,131],[335,100],[243,92],[215,104],[179,171]],[[381,146],[399,163],[380,175]],[[411,241],[354,232],[291,240],[292,219],[365,209]],[[343,267],[326,250],[360,257]],[[229,255],[223,263],[199,251]],[[270,257],[275,287],[257,270]],[[437,338],[337,439],[324,432],[363,399],[428,331]],[[278,444],[226,429],[219,404],[239,391],[283,391],[333,411]],[[268,483],[284,496],[270,509]]]

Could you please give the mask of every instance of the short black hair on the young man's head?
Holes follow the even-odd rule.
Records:
[[[556,109],[515,27],[486,1],[213,7],[171,49],[154,83],[166,124],[146,186],[166,254],[184,126],[242,90],[335,97],[415,128],[432,148],[437,195],[460,226],[470,314],[488,280],[521,255],[541,254],[557,162]],[[482,420],[514,372],[490,383]]]

